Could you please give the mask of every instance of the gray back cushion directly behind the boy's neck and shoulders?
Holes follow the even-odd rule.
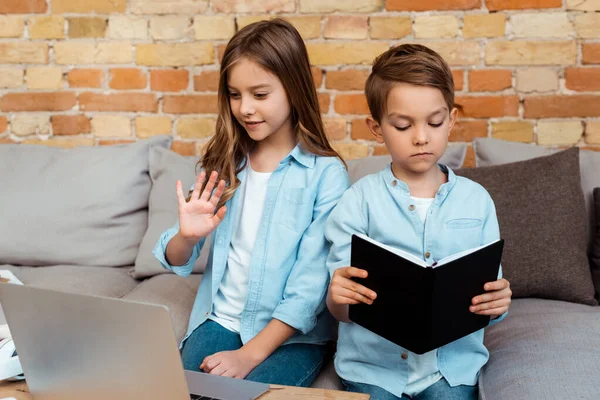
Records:
[[[448,146],[446,152],[440,158],[440,163],[447,165],[450,169],[457,169],[462,167],[467,154],[467,146],[464,144],[452,144]],[[371,156],[365,158],[359,158],[356,160],[347,161],[348,174],[350,175],[350,182],[354,183],[360,178],[374,174],[384,169],[389,163],[392,162],[392,158],[389,155],[386,156]]]

